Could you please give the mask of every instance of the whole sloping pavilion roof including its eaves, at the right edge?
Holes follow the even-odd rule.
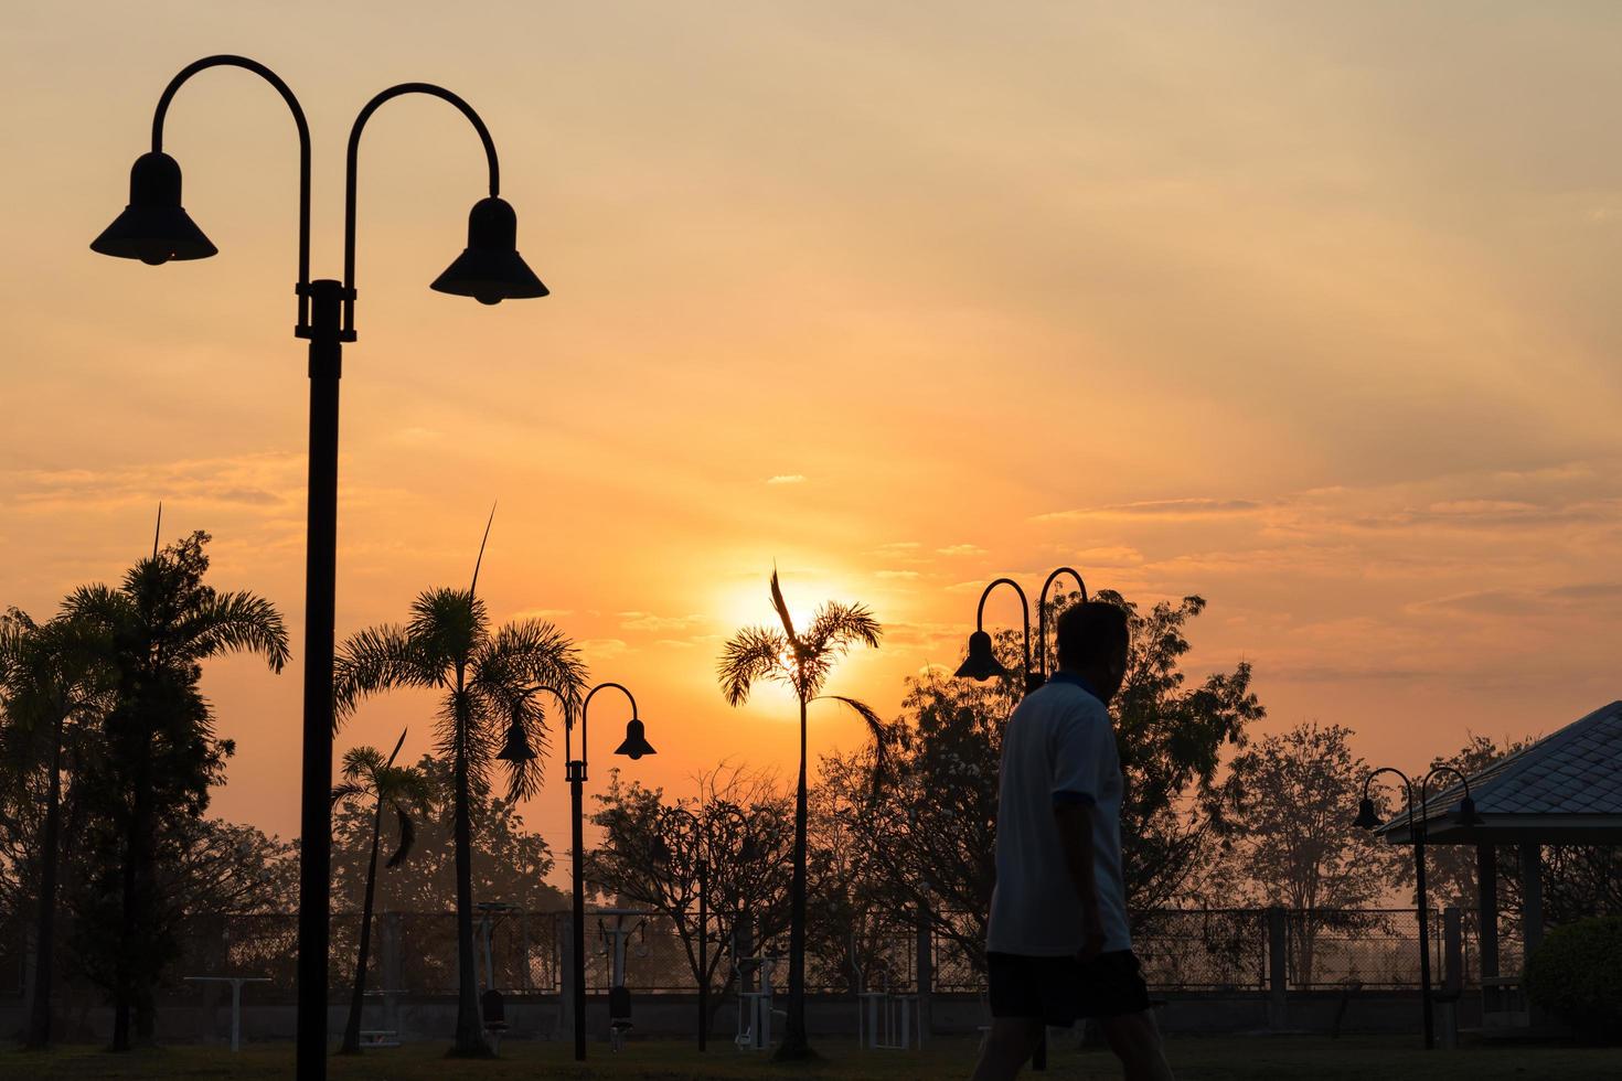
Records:
[[[1458,783],[1414,809],[1427,844],[1622,844],[1622,702],[1478,771],[1470,796],[1478,825],[1455,820],[1465,797]],[[1410,843],[1406,807],[1375,833]]]

